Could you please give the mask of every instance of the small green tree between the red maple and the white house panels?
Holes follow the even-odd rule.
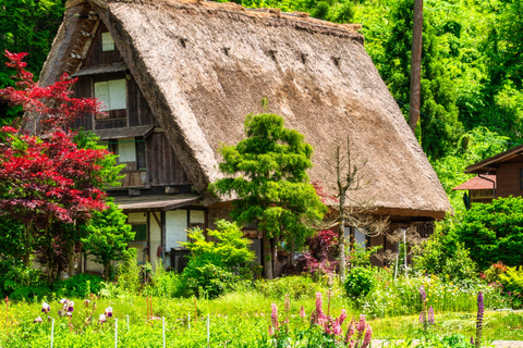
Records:
[[[131,225],[125,224],[127,216],[113,202],[108,209],[94,211],[90,222],[82,226],[84,248],[93,261],[104,265],[104,276],[109,281],[111,261],[124,261],[127,256],[127,243],[133,240]]]

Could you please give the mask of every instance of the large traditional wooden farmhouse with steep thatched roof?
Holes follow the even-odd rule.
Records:
[[[75,97],[104,102],[107,116],[75,127],[93,129],[125,164],[123,185],[109,194],[136,232],[138,261],[162,258],[180,270],[186,228],[229,217],[230,201],[207,191],[220,175],[217,150],[244,137],[244,117],[264,112],[264,98],[313,145],[313,182],[328,186],[320,159],[349,135],[373,178],[356,194],[390,215],[391,231],[427,234],[450,203],[356,29],[235,3],[70,0],[40,84],[68,72],[78,77]],[[259,262],[256,225],[245,234]],[[397,248],[384,236],[355,237]]]

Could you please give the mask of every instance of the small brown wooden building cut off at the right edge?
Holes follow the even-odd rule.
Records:
[[[489,203],[499,197],[523,196],[523,145],[474,163],[465,173],[477,174],[454,187],[467,190],[470,202]]]

